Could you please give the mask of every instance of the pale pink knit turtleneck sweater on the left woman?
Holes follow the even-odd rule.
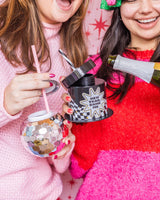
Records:
[[[50,48],[55,80],[68,75],[69,65],[62,64],[58,53],[61,25],[44,24],[44,32]],[[59,173],[69,165],[70,154],[63,160],[53,160],[50,165],[47,158],[38,158],[27,152],[21,144],[20,129],[27,116],[35,111],[44,110],[43,98],[23,112],[10,116],[3,107],[4,89],[20,68],[13,68],[0,51],[0,199],[2,200],[56,200],[62,192]],[[47,63],[42,66],[46,71]],[[61,112],[61,87],[58,92],[50,94],[48,101],[53,112]]]

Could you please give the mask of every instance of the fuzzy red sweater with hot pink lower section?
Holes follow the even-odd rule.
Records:
[[[153,54],[133,52],[145,61]],[[121,103],[108,100],[110,118],[73,125],[70,169],[75,178],[84,177],[77,200],[160,199],[159,99],[160,88],[136,79]]]

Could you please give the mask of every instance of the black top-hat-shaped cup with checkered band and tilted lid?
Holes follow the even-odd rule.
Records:
[[[69,107],[73,109],[73,114],[65,114],[69,121],[94,122],[113,114],[113,111],[107,108],[105,81],[87,74],[94,66],[95,63],[89,60],[62,81],[72,98]]]

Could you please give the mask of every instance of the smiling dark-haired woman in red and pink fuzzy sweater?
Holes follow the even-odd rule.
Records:
[[[84,177],[76,200],[160,199],[160,89],[107,64],[110,54],[160,61],[160,1],[107,2],[102,0],[102,7],[114,9],[113,18],[91,73],[107,82],[114,114],[73,124],[70,170],[73,177]]]

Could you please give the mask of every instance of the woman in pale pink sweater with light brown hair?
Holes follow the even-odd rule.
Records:
[[[62,48],[75,66],[87,56],[82,20],[88,0],[12,0],[0,6],[0,199],[56,200],[62,192],[59,173],[70,161],[75,137],[52,158],[27,152],[20,140],[21,124],[44,110],[42,88],[55,76],[68,75]],[[78,38],[78,39],[77,39]],[[31,45],[35,45],[41,74],[36,73]],[[50,109],[61,112],[63,88],[48,95]]]

